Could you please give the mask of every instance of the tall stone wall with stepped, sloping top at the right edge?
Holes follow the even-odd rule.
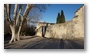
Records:
[[[84,5],[75,13],[78,17],[73,19],[74,36],[84,37]]]

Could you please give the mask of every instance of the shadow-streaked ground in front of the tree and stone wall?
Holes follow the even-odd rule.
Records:
[[[84,42],[63,39],[48,39],[32,37],[13,42],[4,43],[5,49],[84,49]]]

